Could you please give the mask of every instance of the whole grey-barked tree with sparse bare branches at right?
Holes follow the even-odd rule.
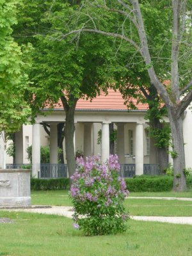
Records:
[[[170,35],[166,35],[166,33],[165,35],[158,35],[167,39],[166,45],[161,45],[162,40],[160,40],[158,45],[159,55],[153,51],[152,36],[150,37],[150,33],[146,29],[147,13],[145,10],[150,10],[151,3],[152,1],[147,0],[140,1],[140,3],[138,0],[84,1],[83,6],[79,9],[78,19],[84,13],[88,15],[88,19],[81,28],[73,29],[70,27],[68,33],[63,33],[62,38],[74,34],[80,35],[84,32],[112,36],[125,40],[134,49],[132,54],[140,56],[138,60],[143,63],[150,84],[156,88],[168,111],[173,146],[173,189],[183,191],[186,189],[186,176],[184,175],[185,156],[182,115],[192,100],[191,65],[189,65],[191,63],[191,54],[189,54],[189,51],[191,52],[191,21],[189,19],[191,1],[172,0],[172,3],[163,1],[162,13],[167,14],[165,10],[172,12],[172,15],[165,15],[164,17],[168,20],[168,26],[170,22],[172,23],[172,27],[169,27],[172,38],[170,40]],[[96,17],[98,18],[98,9],[102,9],[100,19],[96,19]],[[117,15],[120,15],[122,22],[114,23],[113,26],[109,27],[108,22],[111,22],[114,17],[116,20]],[[161,23],[157,26],[161,26]],[[164,51],[166,48],[164,46],[167,47],[170,54],[170,58],[166,61],[161,58],[160,51]],[[166,66],[162,68],[158,61]],[[187,67],[187,70],[184,70],[183,67]],[[170,84],[165,86],[163,84],[164,79],[168,79]]]

